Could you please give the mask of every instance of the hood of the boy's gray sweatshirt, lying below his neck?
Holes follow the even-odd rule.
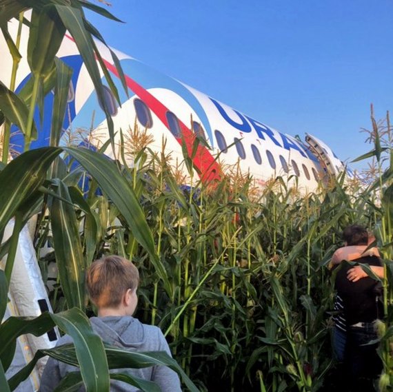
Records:
[[[139,349],[145,343],[145,328],[132,316],[92,317],[90,322],[102,340],[112,346]]]

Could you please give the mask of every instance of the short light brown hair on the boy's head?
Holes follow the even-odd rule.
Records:
[[[128,289],[136,290],[139,272],[130,260],[105,256],[92,262],[86,273],[90,300],[99,308],[117,308]]]

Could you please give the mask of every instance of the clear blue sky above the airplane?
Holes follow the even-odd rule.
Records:
[[[109,1],[109,45],[343,161],[393,109],[391,0]]]

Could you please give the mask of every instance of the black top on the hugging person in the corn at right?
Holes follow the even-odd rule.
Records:
[[[353,260],[357,264],[381,266],[381,260],[376,256],[367,256]],[[347,278],[348,269],[353,266],[342,262],[337,271],[335,287],[338,295],[343,300],[344,315],[347,325],[357,322],[372,322],[381,316],[381,305],[376,301],[379,295],[380,283],[369,276],[351,282]]]

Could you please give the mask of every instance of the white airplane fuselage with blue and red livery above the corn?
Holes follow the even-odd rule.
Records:
[[[15,28],[12,25],[16,24],[11,23],[10,30]],[[0,45],[4,48],[5,44],[0,42]],[[307,140],[312,141],[310,147],[299,138],[283,134],[176,79],[152,70],[126,54],[114,51],[125,74],[128,88],[126,94],[110,51],[99,42],[97,46],[119,91],[121,106],[110,89],[105,88],[105,105],[111,112],[114,130],[125,132],[133,128],[137,121],[139,128],[148,130],[154,138],[150,145],[154,151],[161,152],[162,140],[166,139],[165,152],[170,154],[173,163],[183,161],[184,144],[203,180],[219,179],[221,171],[225,172],[225,167],[239,164],[241,171],[250,173],[256,185],[261,187],[270,178],[283,176],[289,179],[289,183],[296,182],[301,191],[310,192],[316,189],[327,172],[338,174],[344,169],[332,149],[314,136],[307,136]],[[26,53],[23,53],[26,47],[27,38],[23,36],[23,59],[19,65],[17,92],[30,78]],[[74,70],[61,143],[68,143],[69,132],[87,128],[92,130],[90,136],[93,144],[103,143],[108,139],[105,115],[71,37],[66,36],[58,56]],[[0,80],[3,83],[7,83],[10,78],[11,59],[7,59],[5,64],[0,70]],[[53,96],[48,94],[42,123],[37,110],[39,136],[37,141],[32,143],[33,148],[48,145],[52,105]],[[14,127],[13,131],[17,131],[17,128]],[[196,153],[192,153],[196,136],[205,143],[199,143]],[[119,143],[119,132],[116,137]],[[15,133],[11,143],[13,149],[21,152],[23,136]],[[108,154],[111,155],[110,152]],[[112,156],[116,154],[113,152]],[[217,154],[220,154],[219,163]]]

